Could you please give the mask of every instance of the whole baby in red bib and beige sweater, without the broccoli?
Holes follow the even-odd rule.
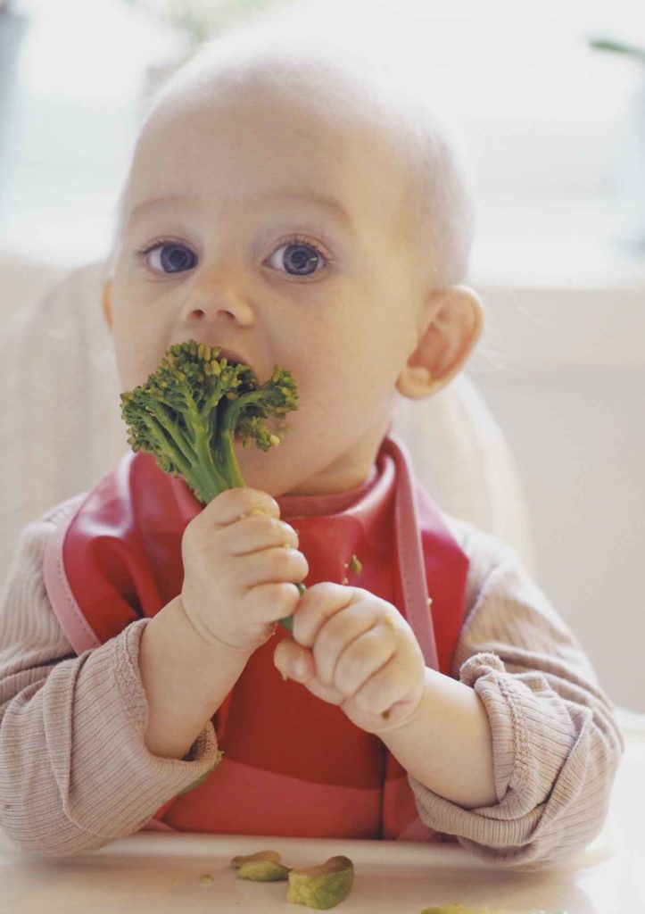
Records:
[[[389,431],[483,320],[461,284],[470,199],[414,99],[256,26],[154,102],[104,293],[122,388],[196,339],[260,380],[288,368],[299,409],[280,447],[238,447],[248,487],[203,509],[128,454],[24,531],[0,608],[18,845],[454,836],[544,866],[603,823],[621,739],[587,659]]]

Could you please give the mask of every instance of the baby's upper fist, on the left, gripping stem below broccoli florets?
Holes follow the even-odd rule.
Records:
[[[186,526],[185,613],[207,642],[252,652],[290,616],[307,577],[298,535],[278,503],[257,489],[227,489]]]

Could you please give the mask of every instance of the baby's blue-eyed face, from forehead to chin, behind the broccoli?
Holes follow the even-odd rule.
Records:
[[[166,104],[137,147],[112,283],[123,389],[190,338],[260,381],[289,368],[289,432],[238,448],[247,484],[274,495],[365,480],[418,342],[404,166],[315,115],[257,93]]]

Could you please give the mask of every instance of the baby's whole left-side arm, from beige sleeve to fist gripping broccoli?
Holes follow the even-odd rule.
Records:
[[[229,490],[185,529],[182,593],[76,658],[42,579],[63,513],[26,528],[0,603],[0,827],[59,856],[139,830],[217,764],[211,717],[308,572],[277,503]]]

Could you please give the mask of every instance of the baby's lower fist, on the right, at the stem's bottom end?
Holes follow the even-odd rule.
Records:
[[[302,594],[293,640],[273,660],[282,675],[339,705],[368,733],[407,723],[421,701],[425,662],[414,632],[368,590],[323,582]]]

